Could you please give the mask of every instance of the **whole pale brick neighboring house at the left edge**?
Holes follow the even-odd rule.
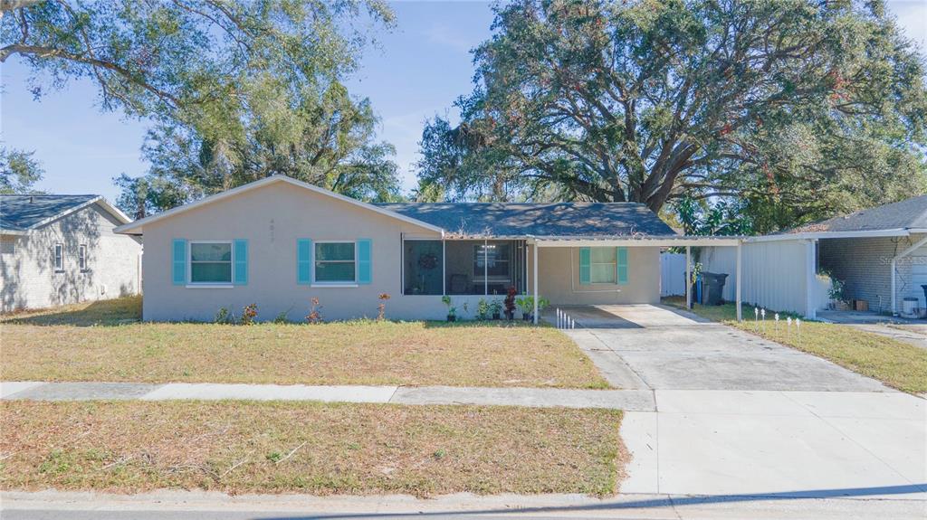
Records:
[[[2,311],[141,291],[142,241],[99,195],[0,195]]]

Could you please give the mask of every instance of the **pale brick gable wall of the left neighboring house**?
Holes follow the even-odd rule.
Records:
[[[30,231],[5,235],[0,243],[0,301],[4,312],[137,294],[141,241],[117,235],[120,224],[97,204]],[[56,272],[54,248],[64,245],[64,268]],[[87,246],[87,269],[78,249]]]

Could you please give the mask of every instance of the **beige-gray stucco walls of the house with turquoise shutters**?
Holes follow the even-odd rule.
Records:
[[[401,294],[401,241],[439,238],[439,233],[399,219],[376,214],[324,194],[274,183],[243,192],[215,204],[193,208],[174,217],[146,224],[146,320],[212,320],[221,307],[240,315],[257,303],[259,319],[286,313],[299,321],[309,312],[311,298],[323,305],[324,319],[376,316],[377,296],[390,295],[387,317],[443,319],[440,296]],[[372,240],[372,281],[356,287],[313,287],[297,283],[297,239],[312,241]],[[248,284],[227,288],[193,288],[171,282],[173,239],[248,240]],[[629,248],[629,285],[621,292],[578,295],[570,291],[567,249],[540,249],[540,293],[553,303],[655,303],[659,301],[659,250]],[[577,250],[572,250],[578,254]],[[532,266],[528,254],[527,288]],[[578,270],[574,275],[578,277]],[[578,283],[578,282],[577,282]],[[458,316],[472,318],[476,303],[486,296],[453,298]],[[499,297],[501,298],[501,297]],[[464,303],[468,311],[464,312]]]

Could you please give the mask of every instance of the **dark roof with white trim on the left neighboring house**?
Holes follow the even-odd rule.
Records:
[[[0,230],[22,234],[97,203],[121,223],[129,222],[129,217],[99,195],[0,195]]]

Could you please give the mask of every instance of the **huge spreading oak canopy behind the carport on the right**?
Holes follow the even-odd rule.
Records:
[[[924,59],[881,1],[515,0],[493,27],[420,192],[735,198],[762,231],[927,189]]]

